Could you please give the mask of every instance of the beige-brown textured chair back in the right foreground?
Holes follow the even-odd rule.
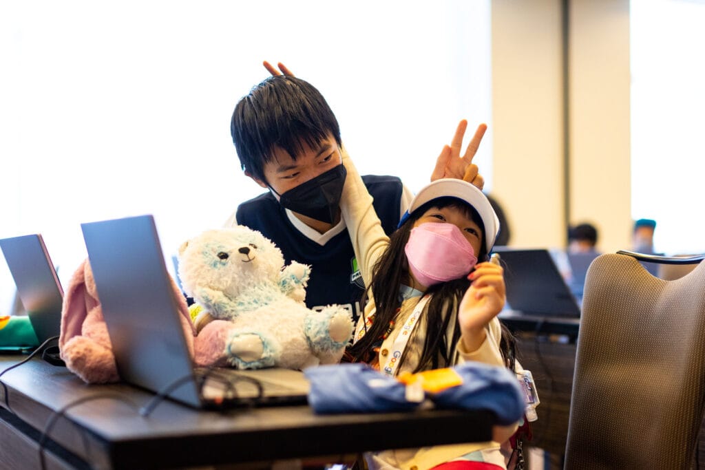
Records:
[[[623,253],[587,273],[565,469],[687,469],[704,412],[705,263],[661,280]]]

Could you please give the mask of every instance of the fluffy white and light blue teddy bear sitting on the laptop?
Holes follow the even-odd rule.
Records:
[[[199,343],[212,348],[216,365],[305,369],[340,361],[352,316],[338,305],[308,309],[309,275],[305,264],[285,267],[281,250],[243,225],[207,230],[179,249],[178,276],[200,311]]]

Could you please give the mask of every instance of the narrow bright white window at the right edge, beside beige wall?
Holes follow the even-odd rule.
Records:
[[[654,248],[705,252],[705,2],[631,2],[632,217]]]

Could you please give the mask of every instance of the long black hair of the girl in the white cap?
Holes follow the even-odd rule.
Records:
[[[472,218],[472,221],[477,223],[482,229],[481,248],[477,256],[478,262],[489,259],[484,244],[484,223],[482,223],[482,218],[472,206],[454,197],[441,197],[419,207],[389,237],[389,247],[380,256],[372,269],[372,283],[365,290],[364,297],[368,297],[369,293],[372,292],[375,304],[374,321],[372,326],[367,329],[365,335],[348,348],[348,356],[353,361],[368,361],[373,347],[389,328],[390,322],[396,319],[397,309],[402,302],[399,295],[399,287],[401,285],[411,285],[405,254],[409,234],[415,221],[431,207],[438,209],[454,207],[463,211],[465,216]],[[414,372],[450,366],[451,361],[453,361],[452,354],[455,352],[455,345],[460,340],[458,307],[468,287],[470,287],[470,280],[463,277],[432,285],[426,291],[427,294],[432,295],[431,300],[424,307],[427,326],[426,338],[419,364],[417,364]],[[362,299],[361,304],[364,304],[364,300],[365,298]],[[450,314],[448,314],[449,312]],[[453,326],[453,335],[450,337],[449,343],[448,328],[451,325]],[[505,363],[512,370],[514,369],[514,347],[513,335],[502,325],[500,349]],[[404,360],[404,356],[400,358],[400,365],[403,364]]]

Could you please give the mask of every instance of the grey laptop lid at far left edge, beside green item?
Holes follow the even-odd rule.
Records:
[[[42,235],[3,238],[0,249],[39,344],[59,336],[63,288]]]

